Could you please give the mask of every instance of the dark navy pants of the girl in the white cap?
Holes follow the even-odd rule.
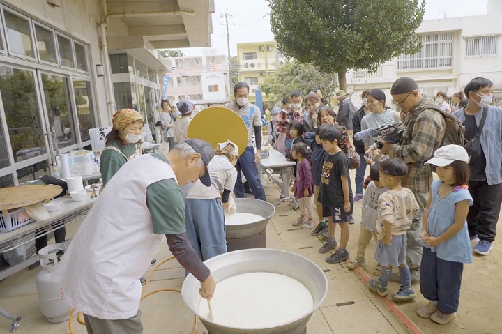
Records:
[[[439,259],[430,248],[423,248],[420,267],[420,292],[429,301],[437,301],[443,314],[457,312],[462,282],[462,262]]]

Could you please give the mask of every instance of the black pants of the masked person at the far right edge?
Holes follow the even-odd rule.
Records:
[[[487,181],[469,181],[469,192],[474,202],[467,214],[469,236],[477,234],[480,240],[493,242],[502,204],[502,183],[488,185]]]

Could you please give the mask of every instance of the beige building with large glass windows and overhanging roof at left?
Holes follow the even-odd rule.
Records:
[[[211,44],[213,0],[0,0],[0,187],[53,174],[121,107],[151,123],[170,67]]]

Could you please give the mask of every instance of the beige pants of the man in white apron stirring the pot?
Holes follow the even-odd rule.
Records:
[[[141,311],[129,319],[106,320],[84,314],[89,334],[143,334]]]

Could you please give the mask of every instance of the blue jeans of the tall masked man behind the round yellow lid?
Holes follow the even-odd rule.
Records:
[[[236,197],[244,198],[244,185],[242,183],[242,176],[241,176],[241,170],[242,170],[246,180],[248,180],[248,184],[250,185],[254,198],[266,201],[265,191],[259,179],[257,166],[254,163],[254,149],[252,146],[247,146],[245,148],[245,151],[238,158],[236,169],[237,169],[237,181],[234,188]]]

